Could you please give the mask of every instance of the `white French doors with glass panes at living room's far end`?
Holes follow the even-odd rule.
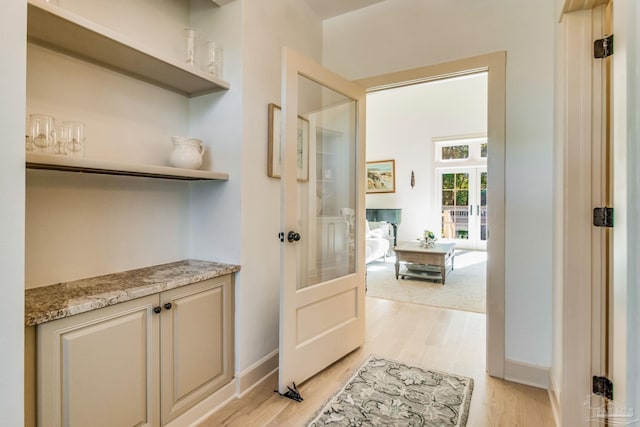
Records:
[[[487,168],[438,169],[441,237],[465,249],[487,249]]]

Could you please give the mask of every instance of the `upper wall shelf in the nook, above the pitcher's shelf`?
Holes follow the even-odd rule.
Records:
[[[229,83],[190,68],[69,11],[28,0],[27,40],[188,97],[229,89]]]

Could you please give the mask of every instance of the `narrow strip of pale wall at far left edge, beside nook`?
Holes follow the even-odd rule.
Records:
[[[24,109],[26,2],[2,4],[0,39],[0,425],[24,425]]]

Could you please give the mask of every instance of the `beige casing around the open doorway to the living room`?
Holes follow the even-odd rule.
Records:
[[[491,254],[487,260],[487,372],[504,378],[506,52],[383,74],[356,83],[367,91],[376,91],[480,71],[488,72],[487,169],[491,183],[487,194],[491,206],[487,218],[487,251]]]

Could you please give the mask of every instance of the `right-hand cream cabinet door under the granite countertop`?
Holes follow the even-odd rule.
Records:
[[[232,292],[223,276],[161,294],[162,424],[233,378]]]

